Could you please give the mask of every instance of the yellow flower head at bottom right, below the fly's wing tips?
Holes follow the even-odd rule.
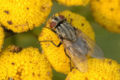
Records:
[[[86,73],[73,69],[65,80],[120,80],[120,66],[112,59],[89,59]]]

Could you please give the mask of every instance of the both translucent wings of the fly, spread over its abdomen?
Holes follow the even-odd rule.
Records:
[[[87,56],[104,58],[104,55],[102,50],[88,36],[81,31],[76,31],[76,34],[76,41],[63,40],[63,44],[75,67],[81,72],[86,72],[88,68]]]

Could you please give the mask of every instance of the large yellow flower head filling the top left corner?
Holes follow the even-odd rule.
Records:
[[[51,0],[0,0],[0,22],[14,32],[26,32],[44,23]]]

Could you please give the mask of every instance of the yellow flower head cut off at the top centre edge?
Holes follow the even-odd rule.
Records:
[[[86,6],[89,0],[57,0],[60,4],[67,6]]]

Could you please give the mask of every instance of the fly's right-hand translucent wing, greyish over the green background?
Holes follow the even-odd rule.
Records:
[[[95,58],[104,58],[104,53],[102,49],[93,41],[90,39],[87,35],[85,35],[83,32],[77,30],[76,34],[78,38],[83,38],[84,41],[86,41],[86,44],[88,46],[88,55]]]

